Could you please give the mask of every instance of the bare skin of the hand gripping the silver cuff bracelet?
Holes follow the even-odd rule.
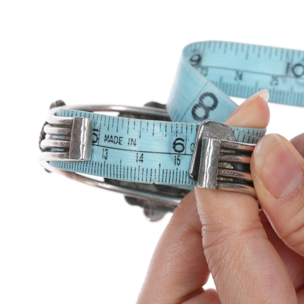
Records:
[[[264,128],[268,122],[267,103],[255,96],[226,124]],[[274,139],[278,136],[264,136],[252,156],[262,211],[247,194],[195,187],[175,209],[158,242],[137,304],[304,304],[304,185],[297,178],[296,189],[286,186],[288,191],[280,192],[287,196],[271,193],[274,187],[269,188],[258,162],[268,157],[265,147]],[[303,173],[304,134],[291,142],[280,140],[275,158],[283,162],[289,153]],[[267,173],[279,176],[275,163],[265,166]],[[204,289],[210,273],[216,291]]]

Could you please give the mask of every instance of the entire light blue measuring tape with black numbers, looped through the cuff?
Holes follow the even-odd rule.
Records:
[[[189,166],[198,123],[225,122],[237,105],[267,88],[274,103],[304,106],[304,52],[233,42],[185,47],[167,104],[173,122],[59,108],[62,117],[93,119],[89,161],[51,161],[62,170],[127,182],[192,187]],[[255,144],[264,129],[231,127],[235,140]]]

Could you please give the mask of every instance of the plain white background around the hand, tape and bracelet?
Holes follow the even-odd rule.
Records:
[[[38,163],[49,104],[166,103],[185,45],[304,49],[300,1],[1,1],[0,303],[134,303],[170,219]],[[303,109],[271,105],[291,139]]]

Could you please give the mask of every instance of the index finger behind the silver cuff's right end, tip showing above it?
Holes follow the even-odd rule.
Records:
[[[264,128],[268,91],[237,109],[227,124]],[[247,194],[195,187],[202,242],[221,303],[297,303],[293,283]]]

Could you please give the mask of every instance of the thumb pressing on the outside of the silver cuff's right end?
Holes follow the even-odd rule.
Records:
[[[252,156],[259,203],[279,238],[304,256],[304,158],[282,136],[269,134]]]

